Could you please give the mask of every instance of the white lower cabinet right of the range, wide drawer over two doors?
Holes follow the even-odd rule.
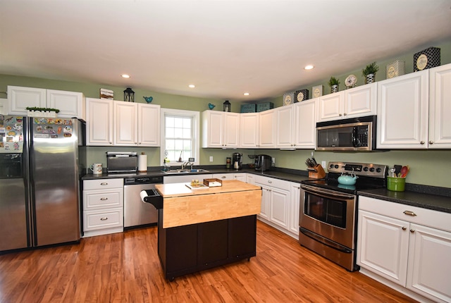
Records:
[[[421,302],[451,302],[451,214],[359,197],[357,264]]]

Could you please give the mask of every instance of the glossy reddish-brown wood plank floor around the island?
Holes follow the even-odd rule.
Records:
[[[163,278],[156,227],[0,256],[0,302],[413,302],[257,221],[257,256]]]

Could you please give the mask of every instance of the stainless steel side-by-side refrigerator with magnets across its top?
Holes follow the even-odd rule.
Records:
[[[78,119],[0,115],[0,251],[80,240]]]

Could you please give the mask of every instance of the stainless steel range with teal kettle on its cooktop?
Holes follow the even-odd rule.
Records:
[[[329,162],[325,179],[302,181],[299,243],[348,271],[357,270],[357,191],[385,187],[387,174],[385,165]],[[342,175],[349,176],[340,178],[342,183],[353,183],[354,175],[357,180],[341,184]]]

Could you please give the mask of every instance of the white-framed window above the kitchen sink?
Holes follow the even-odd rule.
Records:
[[[166,157],[169,165],[180,165],[178,159],[194,158],[199,165],[199,112],[180,109],[161,109],[161,165]]]

